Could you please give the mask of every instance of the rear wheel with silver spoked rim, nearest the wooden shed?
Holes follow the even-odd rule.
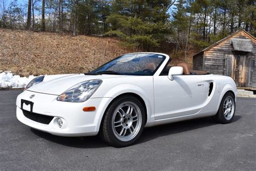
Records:
[[[220,102],[219,110],[213,119],[220,124],[231,123],[235,113],[235,98],[231,92],[227,92]]]

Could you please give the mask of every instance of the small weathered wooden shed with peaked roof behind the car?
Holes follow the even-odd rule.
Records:
[[[239,30],[193,56],[194,70],[231,76],[238,88],[256,90],[256,39]]]

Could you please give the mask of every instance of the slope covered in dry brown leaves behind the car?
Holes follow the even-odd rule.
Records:
[[[157,51],[161,49],[166,50]],[[120,54],[136,51],[114,38],[0,29],[0,70],[22,76],[85,73]],[[184,61],[183,54],[177,56],[172,47],[163,53],[173,54],[174,64]],[[191,56],[188,63],[192,63]]]

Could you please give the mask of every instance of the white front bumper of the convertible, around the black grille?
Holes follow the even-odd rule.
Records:
[[[30,99],[31,95],[35,95],[35,97]],[[112,100],[112,98],[90,98],[86,102],[72,103],[57,101],[57,97],[57,95],[42,94],[28,90],[22,92],[16,100],[17,119],[34,129],[57,136],[95,136],[99,131],[103,113]],[[33,102],[33,113],[52,116],[51,122],[49,124],[41,124],[25,117],[21,109],[21,99]],[[85,106],[95,106],[96,110],[84,112],[83,108]],[[23,110],[29,111],[30,107],[23,104]],[[63,120],[61,128],[56,124],[57,118]]]

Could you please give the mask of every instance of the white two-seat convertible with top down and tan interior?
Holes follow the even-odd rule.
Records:
[[[231,77],[170,67],[161,53],[119,56],[85,74],[33,79],[17,97],[17,118],[57,136],[95,136],[116,147],[144,127],[213,116],[230,123],[237,87]]]

